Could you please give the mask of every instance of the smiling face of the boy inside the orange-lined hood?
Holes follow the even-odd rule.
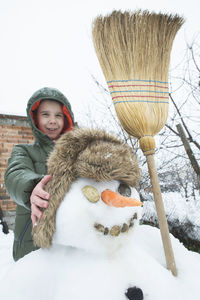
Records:
[[[37,111],[37,125],[50,139],[57,140],[64,127],[62,105],[53,100],[43,100]]]

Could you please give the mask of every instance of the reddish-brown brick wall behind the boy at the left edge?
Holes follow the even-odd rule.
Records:
[[[4,184],[8,158],[14,145],[30,144],[33,140],[26,117],[0,114],[0,207],[5,215],[12,214],[16,208]]]

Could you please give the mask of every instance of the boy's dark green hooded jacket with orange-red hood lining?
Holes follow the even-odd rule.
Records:
[[[46,175],[47,157],[54,142],[34,123],[34,115],[41,100],[56,100],[63,105],[65,116],[64,131],[74,126],[74,116],[67,98],[57,89],[42,88],[36,91],[27,104],[27,116],[35,141],[33,144],[20,144],[13,148],[8,160],[4,180],[8,194],[16,202],[13,258],[18,260],[36,250],[32,240],[30,196],[36,184]]]

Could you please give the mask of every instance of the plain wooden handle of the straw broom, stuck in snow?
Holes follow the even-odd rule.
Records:
[[[151,184],[152,184],[152,188],[153,188],[154,201],[155,201],[156,211],[157,211],[157,215],[158,215],[158,222],[159,222],[159,226],[160,226],[160,232],[161,232],[161,237],[162,237],[162,242],[163,242],[163,247],[164,247],[164,252],[165,252],[167,269],[171,270],[171,272],[174,276],[177,276],[177,269],[176,269],[176,264],[175,264],[175,260],[174,260],[172,244],[171,244],[171,240],[170,240],[170,236],[169,236],[167,218],[165,215],[165,209],[164,209],[164,204],[163,204],[163,200],[162,200],[160,184],[159,184],[159,180],[158,180],[158,173],[157,173],[156,166],[155,166],[154,155],[153,154],[147,155],[146,158],[147,158],[147,164],[148,164]]]

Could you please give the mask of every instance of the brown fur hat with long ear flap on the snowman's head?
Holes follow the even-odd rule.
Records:
[[[131,148],[114,135],[99,129],[74,128],[63,134],[49,156],[46,185],[49,206],[33,229],[37,246],[51,246],[55,231],[56,211],[72,182],[79,177],[95,181],[119,180],[137,187],[140,169]]]

